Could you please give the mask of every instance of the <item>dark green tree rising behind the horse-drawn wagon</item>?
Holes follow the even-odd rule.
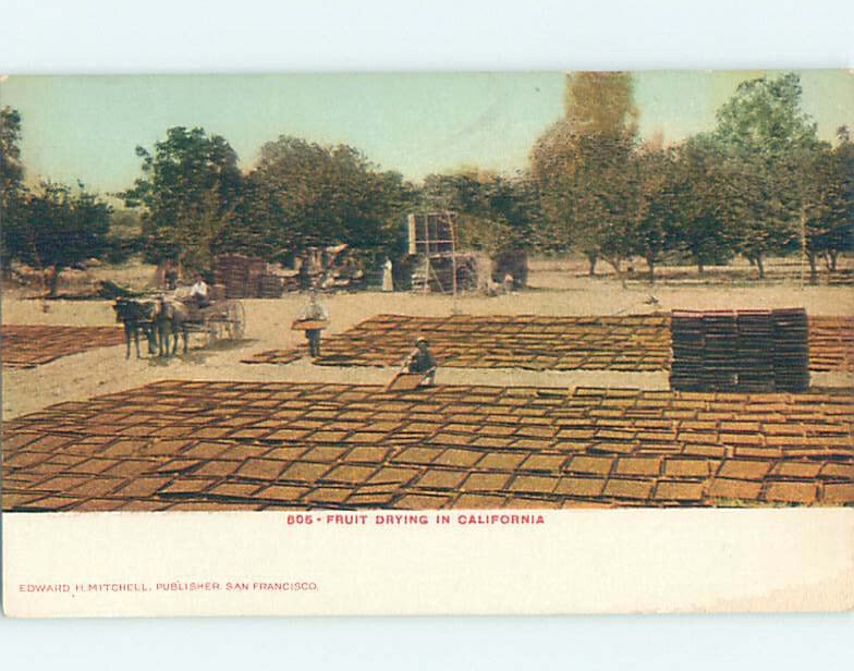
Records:
[[[143,176],[122,196],[129,207],[144,208],[147,260],[208,268],[234,221],[243,180],[237,155],[220,135],[183,126],[169,129],[154,155],[144,147],[136,155],[143,159]]]

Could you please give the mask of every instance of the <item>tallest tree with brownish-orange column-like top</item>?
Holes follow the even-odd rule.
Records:
[[[535,143],[532,172],[542,194],[554,249],[575,249],[621,273],[639,184],[630,157],[637,135],[627,73],[586,72],[566,80],[564,118]]]

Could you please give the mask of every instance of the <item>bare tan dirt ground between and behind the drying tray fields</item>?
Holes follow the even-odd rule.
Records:
[[[101,269],[103,277],[150,277],[147,268]],[[713,274],[713,273],[712,273]],[[623,286],[612,276],[584,277],[582,264],[541,261],[533,265],[530,289],[487,297],[422,295],[413,293],[342,293],[324,296],[331,314],[330,333],[339,333],[373,315],[395,313],[443,316],[473,315],[621,315],[671,309],[746,309],[805,307],[810,315],[854,315],[850,286],[804,286],[796,280],[780,282],[719,283],[668,282],[650,286],[633,281]],[[32,293],[32,292],[30,292]],[[109,301],[50,301],[26,297],[27,290],[7,291],[2,298],[3,324],[115,326]],[[650,302],[655,296],[657,304]],[[53,403],[89,399],[163,379],[246,381],[335,381],[383,383],[390,369],[313,366],[302,359],[288,366],[247,365],[241,359],[271,349],[302,342],[290,329],[305,303],[301,294],[280,300],[246,300],[246,338],[235,343],[202,347],[194,335],[191,352],[169,361],[124,358],[124,345],[100,347],[62,357],[33,369],[2,373],[3,417],[36,412]],[[47,312],[44,306],[47,305]],[[403,356],[405,353],[402,352]],[[532,371],[520,369],[469,370],[446,368],[441,383],[536,385],[544,387],[612,386],[667,389],[667,373]],[[852,386],[846,374],[816,374],[815,383]]]

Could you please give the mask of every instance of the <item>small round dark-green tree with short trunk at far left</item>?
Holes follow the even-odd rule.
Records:
[[[50,295],[57,295],[64,268],[102,255],[110,229],[110,206],[83,184],[72,191],[42,182],[22,208],[15,257],[39,269],[49,269]]]

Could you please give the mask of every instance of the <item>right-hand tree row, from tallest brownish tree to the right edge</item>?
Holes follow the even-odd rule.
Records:
[[[532,151],[547,244],[598,259],[618,274],[669,257],[699,272],[735,254],[765,277],[769,255],[801,252],[817,280],[854,246],[854,145],[818,139],[801,109],[797,75],[743,82],[713,130],[675,146],[642,141],[625,73],[570,76],[563,119]]]

